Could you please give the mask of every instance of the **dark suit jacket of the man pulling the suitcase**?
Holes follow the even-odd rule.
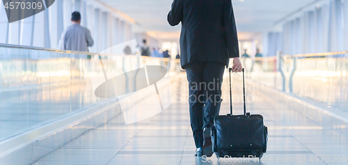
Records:
[[[237,28],[231,0],[174,0],[168,22],[182,22],[182,68],[195,61],[219,62],[239,57]]]

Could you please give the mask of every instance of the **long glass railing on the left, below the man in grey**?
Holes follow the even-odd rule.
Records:
[[[68,52],[0,45],[0,141],[83,111],[106,99],[95,96],[90,79],[91,57],[105,68],[124,72],[136,68],[139,56]],[[179,61],[141,58],[143,65],[161,65],[175,74]]]

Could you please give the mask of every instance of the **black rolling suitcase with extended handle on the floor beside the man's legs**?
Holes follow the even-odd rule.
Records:
[[[267,127],[261,115],[246,113],[244,69],[244,115],[232,115],[232,89],[230,68],[230,114],[217,116],[212,127],[212,145],[216,157],[261,158],[267,149]]]

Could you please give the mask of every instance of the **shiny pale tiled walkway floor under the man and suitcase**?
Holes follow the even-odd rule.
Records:
[[[240,80],[233,81],[235,114],[242,113]],[[221,115],[229,111],[227,83],[224,79]],[[348,123],[305,113],[310,111],[305,105],[260,84],[246,86],[247,110],[261,113],[269,128],[268,150],[261,160],[194,157],[187,80],[182,75],[172,83],[173,104],[157,116],[132,125],[117,116],[34,164],[348,164],[348,136],[342,131]]]

